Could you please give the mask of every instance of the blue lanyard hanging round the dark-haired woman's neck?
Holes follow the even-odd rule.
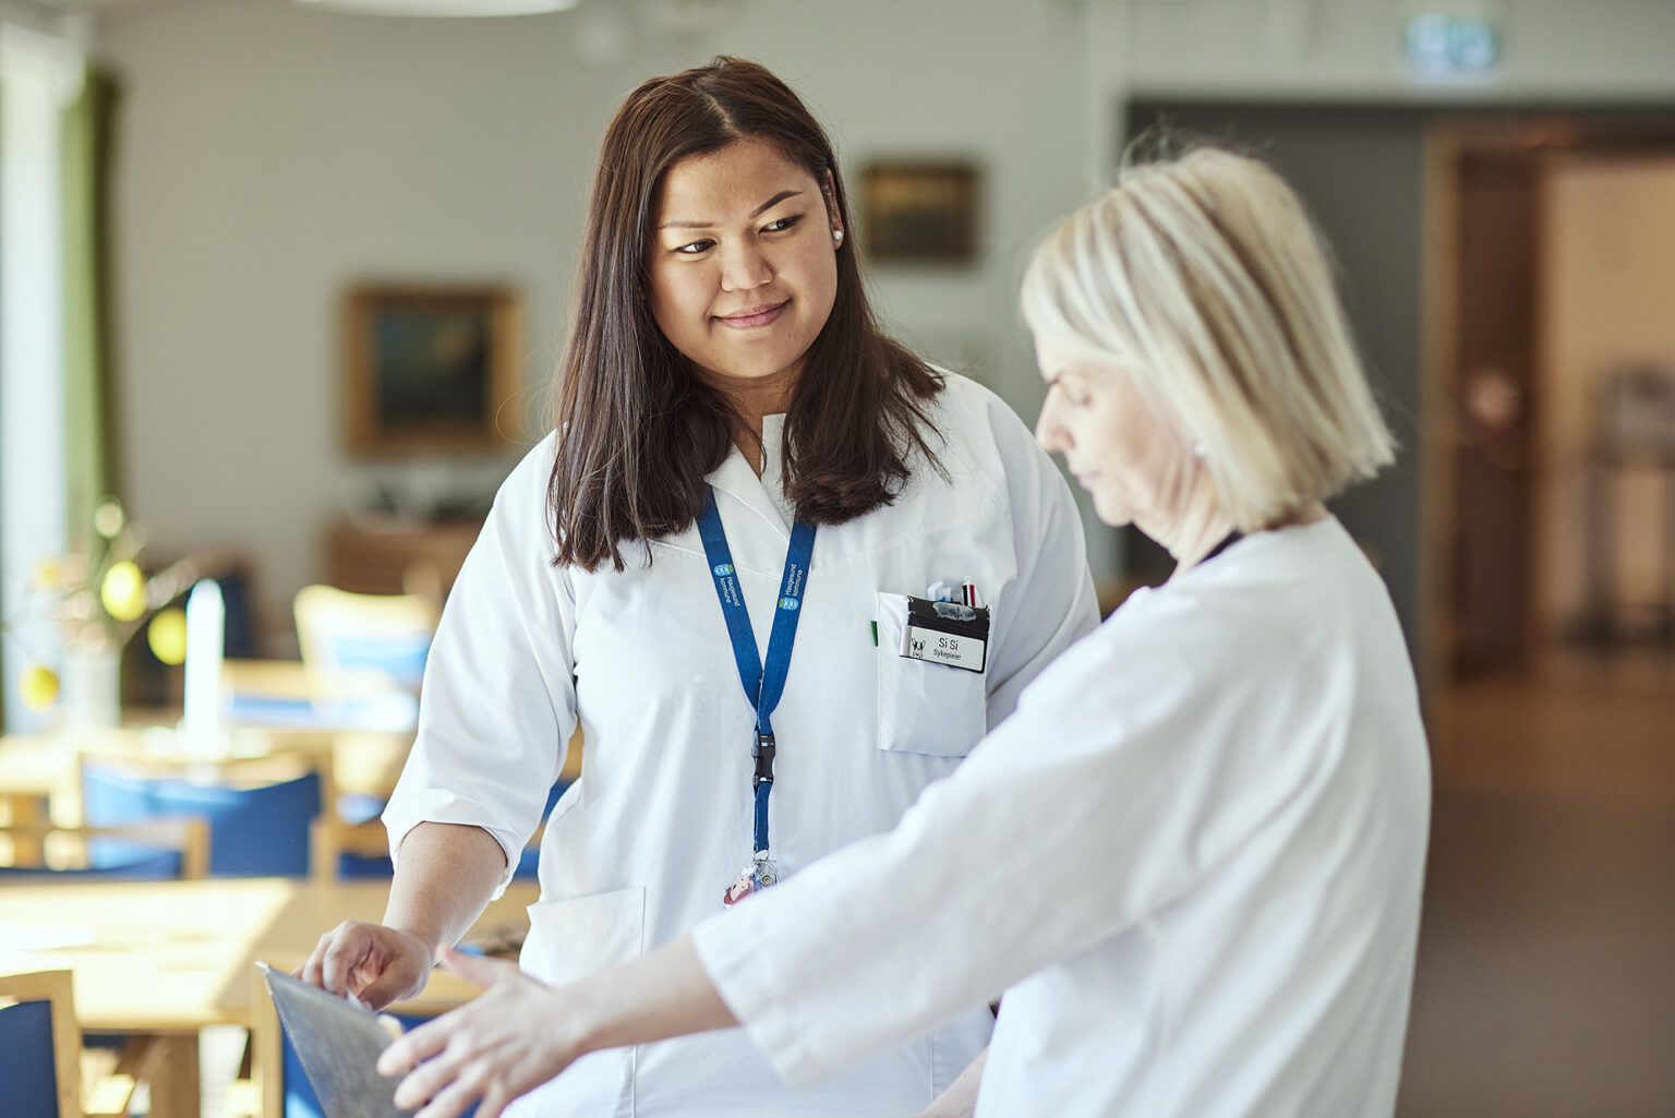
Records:
[[[765,855],[767,798],[774,791],[774,707],[786,691],[786,674],[791,670],[791,645],[797,640],[797,617],[802,615],[802,593],[809,585],[809,556],[814,553],[814,525],[796,521],[791,526],[791,550],[786,551],[786,577],[779,583],[779,603],[774,608],[774,629],[767,639],[767,660],[759,657],[755,632],[750,629],[750,612],[744,605],[744,587],[734,572],[732,551],[727,550],[727,531],[722,515],[715,510],[715,489],[704,491],[704,515],[698,518],[698,538],[704,555],[710,560],[710,577],[715,578],[715,597],[722,602],[727,619],[727,635],[734,642],[734,660],[739,664],[739,682],[744,697],[755,711],[755,741],[750,756],[755,758],[755,853]]]

